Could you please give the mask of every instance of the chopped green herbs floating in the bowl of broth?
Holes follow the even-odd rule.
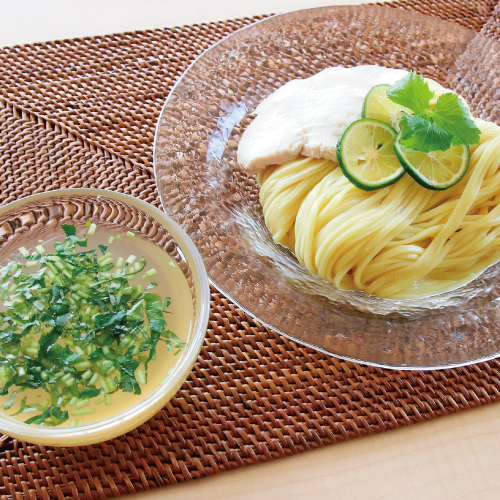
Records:
[[[88,235],[96,230],[90,222],[86,227]],[[14,413],[36,412],[26,423],[40,426],[68,421],[66,406],[76,408],[72,416],[93,413],[86,406],[100,395],[109,405],[118,390],[140,394],[158,342],[169,350],[184,346],[163,316],[170,298],[129,282],[144,270],[144,258],[133,264],[135,256],[125,263],[120,257],[123,269],[108,273],[115,264],[106,245],[99,245],[98,257],[75,226],[62,229],[66,238],[54,243],[53,253],[21,247],[21,257],[0,268],[0,395],[8,397],[3,410],[19,393],[41,388],[48,395],[43,405],[29,404],[25,396]],[[143,277],[154,274],[151,269]],[[155,286],[152,281],[145,289]],[[78,422],[73,418],[71,425]]]

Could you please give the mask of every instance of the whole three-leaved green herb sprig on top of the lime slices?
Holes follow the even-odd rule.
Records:
[[[460,97],[453,92],[443,94],[431,109],[434,93],[424,77],[415,71],[392,85],[387,96],[413,112],[401,118],[403,146],[428,153],[446,151],[451,145],[479,144],[480,130]]]

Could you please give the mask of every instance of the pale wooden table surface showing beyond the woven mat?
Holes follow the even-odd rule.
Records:
[[[0,46],[362,0],[1,0]],[[497,499],[500,405],[127,496],[130,500]]]

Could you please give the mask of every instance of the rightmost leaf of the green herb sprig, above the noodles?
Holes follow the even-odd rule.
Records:
[[[454,145],[479,144],[481,132],[457,94],[449,92],[439,96],[429,114],[437,126],[453,134]]]

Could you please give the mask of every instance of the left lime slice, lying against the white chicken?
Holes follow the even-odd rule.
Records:
[[[395,183],[404,168],[394,152],[396,131],[387,123],[362,118],[351,123],[337,142],[337,160],[358,188],[373,191]]]

